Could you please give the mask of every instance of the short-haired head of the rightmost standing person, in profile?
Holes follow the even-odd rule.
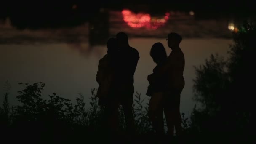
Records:
[[[168,34],[167,44],[171,49],[179,48],[179,44],[181,43],[182,37],[181,35],[171,32]]]

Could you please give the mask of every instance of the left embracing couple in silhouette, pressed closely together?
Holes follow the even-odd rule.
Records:
[[[133,120],[133,75],[139,61],[139,52],[128,43],[124,32],[107,41],[107,54],[99,60],[96,81],[97,97],[104,107],[104,125],[110,133],[118,132],[118,108],[123,106],[126,130],[135,132]]]

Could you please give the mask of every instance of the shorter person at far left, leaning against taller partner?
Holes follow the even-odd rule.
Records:
[[[99,84],[97,97],[98,104],[104,107],[104,120],[102,120],[103,128],[107,131],[117,131],[117,120],[113,117],[117,115],[117,111],[113,109],[113,101],[115,102],[115,90],[113,89],[113,81],[115,75],[115,61],[117,58],[117,39],[109,38],[107,41],[107,54],[99,60],[96,81]]]

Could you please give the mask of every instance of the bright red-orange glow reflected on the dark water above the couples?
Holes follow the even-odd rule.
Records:
[[[123,20],[130,27],[141,28],[146,27],[149,29],[157,29],[163,26],[169,19],[170,13],[165,13],[163,18],[154,18],[148,13],[135,14],[132,11],[125,9],[122,11]]]

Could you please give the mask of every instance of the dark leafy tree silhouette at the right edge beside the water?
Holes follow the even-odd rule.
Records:
[[[194,98],[202,107],[194,108],[190,126],[205,142],[209,138],[214,142],[245,142],[251,138],[255,26],[244,23],[233,40],[229,59],[211,55],[205,64],[195,67]]]

